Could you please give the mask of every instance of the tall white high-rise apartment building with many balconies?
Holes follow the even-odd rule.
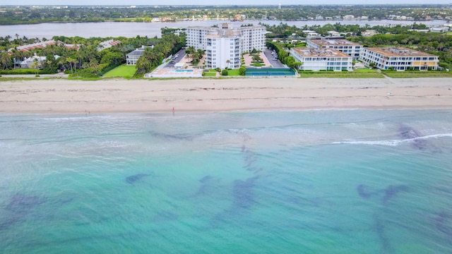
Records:
[[[244,52],[264,49],[265,35],[262,26],[234,28],[222,23],[218,28],[189,27],[186,46],[206,50],[206,68],[239,68]]]

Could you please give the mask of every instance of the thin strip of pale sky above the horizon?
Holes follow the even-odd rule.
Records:
[[[285,5],[285,4],[302,4],[302,5],[314,5],[314,4],[448,4],[452,3],[452,0],[383,0],[372,2],[369,0],[242,0],[242,1],[212,1],[212,0],[165,0],[165,1],[152,1],[152,0],[76,0],[76,1],[61,1],[61,0],[2,0],[0,6],[12,5]]]

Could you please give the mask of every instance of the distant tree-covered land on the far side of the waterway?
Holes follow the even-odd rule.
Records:
[[[126,7],[126,8],[125,8]],[[51,22],[151,22],[153,18],[160,20],[188,20],[194,18],[226,18],[235,15],[246,16],[256,20],[307,20],[309,18],[338,20],[345,15],[355,17],[367,16],[369,20],[391,18],[391,15],[407,16],[414,20],[429,18],[444,19],[452,16],[447,4],[422,5],[290,5],[276,8],[275,5],[239,6],[216,5],[194,8],[186,6],[4,6],[0,13],[0,25],[33,24]],[[280,30],[279,35],[289,36],[292,32]]]

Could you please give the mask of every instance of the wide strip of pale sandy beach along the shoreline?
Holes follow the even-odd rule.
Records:
[[[452,78],[0,80],[1,113],[452,108]]]

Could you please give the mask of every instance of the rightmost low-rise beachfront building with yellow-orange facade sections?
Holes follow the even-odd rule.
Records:
[[[374,65],[382,70],[436,70],[438,56],[403,47],[372,47],[364,48],[359,59],[365,65]],[[372,64],[373,63],[373,64]]]

